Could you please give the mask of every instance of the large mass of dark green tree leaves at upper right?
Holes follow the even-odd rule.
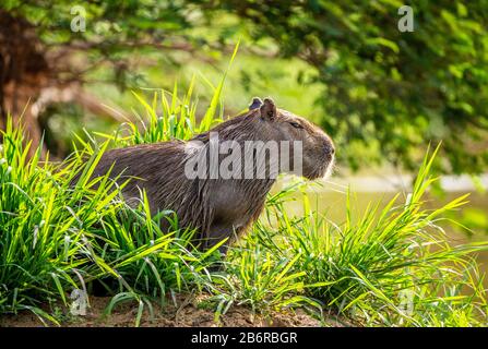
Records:
[[[243,27],[260,50],[277,47],[279,56],[300,57],[316,69],[309,82],[322,86],[321,124],[353,168],[366,165],[357,148],[372,146],[381,149],[378,161],[417,169],[426,142],[441,140],[449,159],[444,171],[485,168],[485,0],[407,3],[413,33],[397,28],[401,1],[194,2],[241,19],[228,27]],[[210,16],[210,25],[221,12]],[[222,36],[229,32],[222,29]],[[478,142],[483,149],[472,147]]]

